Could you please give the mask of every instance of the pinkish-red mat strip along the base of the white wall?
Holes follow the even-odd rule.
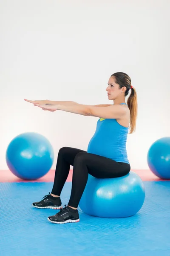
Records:
[[[143,181],[160,181],[150,170],[131,170],[136,172]],[[45,176],[38,180],[21,180],[14,176],[9,170],[0,171],[0,182],[53,182],[55,170],[50,170]],[[67,182],[72,180],[73,170],[70,170]]]

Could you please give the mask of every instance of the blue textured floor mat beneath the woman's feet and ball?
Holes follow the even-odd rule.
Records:
[[[170,256],[170,182],[145,181],[142,209],[129,218],[97,218],[79,209],[80,222],[53,224],[57,210],[36,209],[53,183],[0,183],[0,256]],[[71,183],[65,183],[62,205]]]

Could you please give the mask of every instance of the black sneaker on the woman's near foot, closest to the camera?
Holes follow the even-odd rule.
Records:
[[[79,222],[79,212],[74,210],[71,207],[65,205],[57,214],[47,218],[48,221],[51,221],[56,224],[64,224],[68,222]]]

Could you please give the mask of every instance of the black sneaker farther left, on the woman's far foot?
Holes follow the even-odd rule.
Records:
[[[61,199],[58,198],[51,198],[50,193],[45,195],[40,202],[32,203],[32,206],[40,209],[61,209]]]

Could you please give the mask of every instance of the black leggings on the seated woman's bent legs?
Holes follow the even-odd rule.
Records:
[[[71,197],[68,205],[78,207],[85,189],[88,173],[96,178],[115,178],[130,172],[128,163],[121,163],[107,157],[87,153],[77,148],[60,148],[52,194],[60,195],[67,180],[70,165],[73,166]]]

